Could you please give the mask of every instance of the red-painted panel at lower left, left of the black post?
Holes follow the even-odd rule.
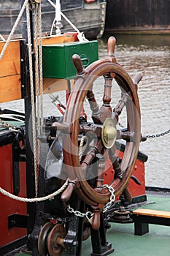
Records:
[[[0,147],[0,187],[13,193],[12,182],[12,145]],[[18,196],[26,197],[26,164],[20,163],[20,193]],[[11,214],[27,214],[26,203],[13,200],[0,193],[0,246],[26,236],[26,228],[8,228],[7,217]]]

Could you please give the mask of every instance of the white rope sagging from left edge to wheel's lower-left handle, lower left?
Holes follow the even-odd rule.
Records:
[[[13,200],[17,200],[25,203],[34,203],[34,202],[45,201],[52,197],[55,197],[55,195],[59,195],[61,192],[63,192],[63,190],[67,187],[67,185],[68,185],[68,180],[63,184],[63,186],[60,189],[53,192],[52,194],[46,195],[45,197],[36,197],[36,198],[18,197],[17,195],[13,195],[12,193],[7,192],[7,190],[2,189],[1,187],[0,187],[0,192],[1,194],[6,195],[7,197],[10,197]]]

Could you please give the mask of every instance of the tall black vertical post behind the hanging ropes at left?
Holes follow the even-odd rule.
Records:
[[[33,33],[33,12],[30,10],[30,25],[31,25],[31,42],[32,47],[34,47],[34,33]],[[27,39],[27,38],[26,38]],[[28,48],[26,46],[26,42],[21,42],[20,45],[20,58],[21,58],[21,85],[22,95],[24,97],[25,103],[25,129],[26,129],[26,187],[27,187],[27,197],[32,198],[35,197],[35,176],[34,176],[34,154],[32,151],[33,145],[33,135],[32,135],[32,120],[31,120],[31,89],[30,89],[30,81],[29,81],[29,64],[28,64]],[[23,61],[22,61],[23,60]],[[32,66],[34,68],[34,55],[33,55],[33,63]],[[35,73],[35,72],[34,72]],[[28,212],[28,234],[32,232],[34,229],[35,222],[35,203],[27,204],[27,212]],[[28,243],[28,248],[31,246]]]

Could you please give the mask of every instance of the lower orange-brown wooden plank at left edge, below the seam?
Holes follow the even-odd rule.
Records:
[[[0,78],[0,103],[21,99],[20,75]]]

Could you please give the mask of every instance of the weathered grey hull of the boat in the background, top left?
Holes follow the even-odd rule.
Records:
[[[7,0],[0,2],[0,34],[9,34],[15,23],[21,6],[20,0]],[[75,28],[85,34],[87,39],[96,39],[102,37],[105,26],[106,1],[105,0],[61,0],[61,12],[69,20],[62,18],[61,33],[74,32]],[[55,1],[50,2],[42,0],[42,31],[44,34],[50,34],[55,19]],[[21,22],[15,34],[22,34]],[[55,34],[55,28],[53,29]]]

